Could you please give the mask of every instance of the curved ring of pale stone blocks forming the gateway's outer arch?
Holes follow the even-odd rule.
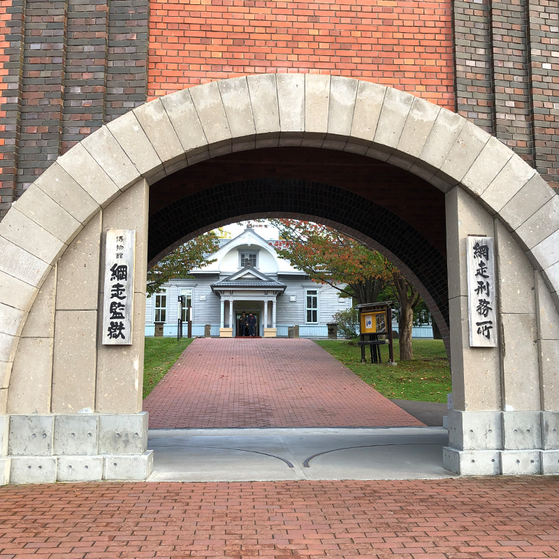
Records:
[[[502,235],[521,247],[537,277],[541,273],[545,286],[539,289],[558,306],[559,196],[499,140],[460,115],[371,82],[308,74],[233,78],[155,99],[115,119],[59,157],[10,208],[0,224],[3,401],[38,289],[99,210],[138,181],[155,184],[204,159],[275,146],[321,147],[386,161],[447,194],[447,212],[463,207],[483,213],[491,224],[497,219]],[[459,216],[456,210],[457,227]],[[451,235],[458,238],[457,231]],[[452,265],[459,283],[458,263]],[[461,328],[451,321],[453,327]],[[465,402],[460,406],[467,409]],[[463,429],[474,421],[469,417],[470,423],[460,423]],[[479,442],[469,444],[480,448]]]

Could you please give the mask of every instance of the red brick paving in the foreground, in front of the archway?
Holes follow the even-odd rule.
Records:
[[[559,479],[0,488],[0,558],[559,558]]]

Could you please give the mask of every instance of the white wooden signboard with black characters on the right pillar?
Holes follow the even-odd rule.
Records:
[[[466,258],[470,347],[496,347],[498,325],[493,238],[469,236]]]

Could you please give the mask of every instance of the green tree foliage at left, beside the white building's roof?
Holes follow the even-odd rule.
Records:
[[[204,268],[215,262],[206,260],[209,254],[219,250],[219,233],[210,231],[180,245],[168,256],[161,259],[147,272],[147,296],[156,293],[161,285],[176,277],[191,278],[194,268]]]

